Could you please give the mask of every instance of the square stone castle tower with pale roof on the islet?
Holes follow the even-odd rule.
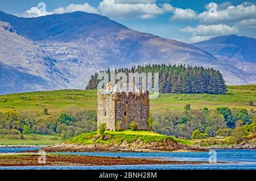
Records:
[[[125,89],[123,89],[125,87]],[[121,88],[119,88],[121,89]],[[147,117],[149,112],[148,91],[137,90],[134,84],[122,86],[108,83],[104,91],[97,94],[97,126],[106,123],[106,128],[116,131],[117,123],[121,130],[129,128],[129,124],[135,121],[139,130],[148,130]]]

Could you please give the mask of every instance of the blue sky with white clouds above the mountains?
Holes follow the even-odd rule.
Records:
[[[186,43],[236,34],[256,38],[256,0],[8,0],[0,10],[31,18],[84,11]]]

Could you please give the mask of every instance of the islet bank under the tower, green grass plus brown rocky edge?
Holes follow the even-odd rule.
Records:
[[[64,144],[48,146],[47,152],[86,152],[86,151],[206,151],[190,141],[173,136],[164,136],[151,131],[106,131],[82,133]]]

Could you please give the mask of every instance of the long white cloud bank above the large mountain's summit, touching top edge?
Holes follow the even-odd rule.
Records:
[[[84,5],[71,4],[67,7],[59,7],[51,12],[42,11],[39,7],[31,7],[31,9],[27,10],[25,13],[15,15],[37,17],[75,11],[97,13],[109,16],[110,18],[150,19],[164,12],[172,12],[174,11],[174,7],[167,3],[156,5],[156,0],[102,0],[97,8],[90,6],[88,3],[84,3]]]

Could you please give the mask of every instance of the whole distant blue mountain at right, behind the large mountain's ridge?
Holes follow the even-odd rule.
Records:
[[[212,53],[222,62],[236,66],[247,75],[246,83],[256,83],[256,39],[252,37],[229,35],[192,44]],[[240,72],[241,74],[241,72]]]

